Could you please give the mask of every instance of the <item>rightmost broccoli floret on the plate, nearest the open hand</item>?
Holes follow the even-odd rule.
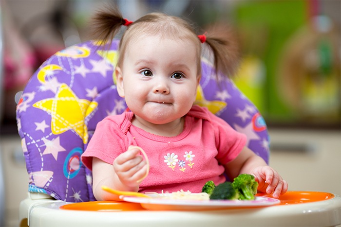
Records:
[[[240,200],[254,200],[257,193],[258,182],[253,175],[241,174],[234,178],[232,186],[240,193]]]

